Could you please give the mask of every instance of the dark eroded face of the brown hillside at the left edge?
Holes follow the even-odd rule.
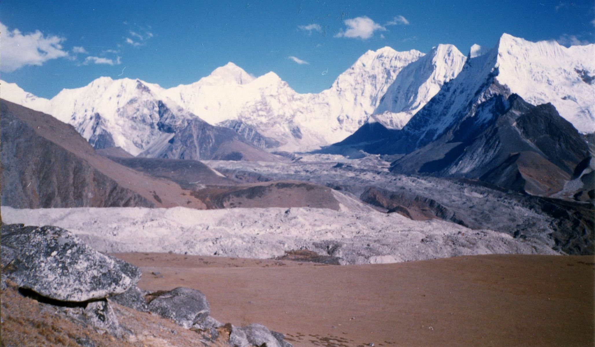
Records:
[[[0,102],[2,205],[14,208],[154,207],[89,162],[40,135],[30,122],[49,127],[80,151],[93,149],[73,127],[51,115]]]

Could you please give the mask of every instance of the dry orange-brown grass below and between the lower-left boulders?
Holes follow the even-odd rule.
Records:
[[[95,332],[57,314],[51,308],[43,309],[39,302],[21,296],[16,287],[0,292],[1,330],[0,347],[68,346],[80,347],[77,340],[92,341],[96,347],[195,347],[227,346],[225,329],[217,342],[207,342],[199,333],[177,326],[173,321],[157,315],[139,312],[111,302],[121,326],[128,330],[122,339]],[[204,343],[204,344],[203,344]]]

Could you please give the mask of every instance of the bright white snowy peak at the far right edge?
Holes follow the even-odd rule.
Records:
[[[580,132],[595,132],[595,44],[566,48],[508,34],[496,47],[497,82],[530,104],[552,103]]]

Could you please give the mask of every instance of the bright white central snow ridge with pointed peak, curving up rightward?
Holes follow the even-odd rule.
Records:
[[[296,93],[273,72],[253,79],[228,63],[192,85],[167,89],[164,95],[211,124],[242,121],[280,142],[281,149],[312,149],[355,132],[399,71],[422,55],[390,47],[368,51],[321,93]]]

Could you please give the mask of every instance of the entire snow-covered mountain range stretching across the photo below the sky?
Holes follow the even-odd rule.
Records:
[[[368,51],[320,93],[300,94],[273,72],[253,77],[228,63],[196,83],[170,89],[101,77],[51,100],[4,82],[0,95],[72,124],[96,148],[120,146],[134,155],[184,152],[179,146],[186,140],[175,150],[167,144],[194,119],[236,130],[256,146],[286,151],[339,142],[367,121],[389,130],[404,126],[391,146],[411,151],[474,116],[477,105],[496,93],[516,93],[531,104],[551,102],[578,130],[595,132],[594,55],[595,45],[565,48],[505,34],[496,48],[474,45],[466,60],[452,45],[427,55],[389,47]],[[187,129],[187,140],[203,126],[193,129]]]

